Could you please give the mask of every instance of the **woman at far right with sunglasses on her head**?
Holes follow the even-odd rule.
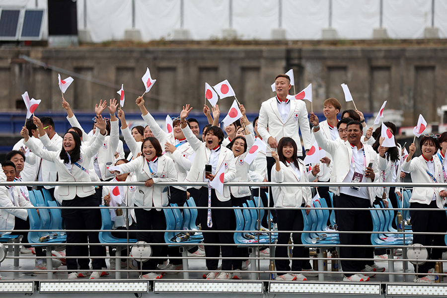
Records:
[[[444,183],[443,166],[438,158],[434,158],[439,149],[439,135],[426,134],[421,139],[419,146],[422,155],[411,159],[416,146],[410,145],[410,152],[402,163],[402,170],[411,173],[411,180],[417,183],[432,183],[433,187],[414,187],[410,199],[410,208],[427,209],[427,211],[411,210],[411,227],[414,232],[425,234],[414,234],[413,243],[424,246],[440,245],[444,246],[444,235],[433,235],[430,232],[446,232],[446,213],[437,211],[443,209],[446,203],[447,191],[445,187],[438,187],[437,183]],[[438,260],[442,257],[442,249],[427,247],[428,260]],[[416,265],[415,271],[416,271]],[[419,275],[415,276],[414,282],[434,283],[435,263],[426,262],[419,265]]]

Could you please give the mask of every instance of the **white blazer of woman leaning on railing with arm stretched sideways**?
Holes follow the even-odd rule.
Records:
[[[133,176],[138,182],[146,182],[152,178],[154,183],[157,182],[172,182],[177,181],[177,173],[175,172],[174,161],[167,156],[159,156],[157,163],[157,172],[155,175],[150,174],[150,169],[146,157],[140,155],[128,163],[123,163],[118,165],[120,168],[120,173],[131,173],[134,172]],[[144,208],[145,210],[150,210],[155,207],[157,211],[160,208],[167,206],[169,203],[168,193],[164,191],[165,186],[153,185],[151,187],[137,186],[135,191],[134,202],[135,205],[139,207],[149,207]]]

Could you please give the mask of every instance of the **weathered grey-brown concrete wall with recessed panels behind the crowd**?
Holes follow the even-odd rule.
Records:
[[[109,85],[74,77],[65,98],[75,110],[92,110],[100,99],[118,97],[122,83],[125,110],[138,110],[134,102],[144,92],[141,76],[146,67],[157,79],[145,95],[146,106],[173,114],[185,103],[201,110],[205,81],[214,85],[225,78],[247,110],[259,110],[261,102],[274,95],[270,84],[276,74],[290,68],[295,72],[297,92],[312,83],[317,111],[329,97],[339,99],[342,109],[354,108],[344,102],[341,83],[348,84],[364,112],[376,112],[383,100],[388,100],[387,109],[403,110],[404,126],[414,125],[419,113],[428,122],[439,121],[436,107],[447,104],[447,47],[440,46],[13,48],[0,49],[3,110],[15,110],[24,91],[42,99],[38,110],[62,110],[58,72],[18,59],[19,54]],[[220,101],[223,113],[232,100]],[[310,111],[308,102],[307,107]]]

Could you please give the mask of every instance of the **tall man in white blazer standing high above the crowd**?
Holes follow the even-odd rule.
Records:
[[[290,77],[287,74],[278,74],[275,78],[276,96],[264,101],[259,110],[258,132],[263,140],[268,143],[269,149],[275,150],[279,140],[283,137],[291,137],[297,143],[298,156],[302,155],[301,135],[304,149],[308,151],[310,143],[310,127],[307,120],[306,104],[302,100],[290,100],[287,98],[292,87]],[[271,181],[271,170],[275,160],[271,152],[267,152],[267,174]]]

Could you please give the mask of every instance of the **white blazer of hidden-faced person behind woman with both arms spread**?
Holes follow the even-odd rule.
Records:
[[[88,146],[94,142],[94,136],[90,137],[88,134],[84,132],[76,117],[73,115],[72,118],[67,116],[67,120],[70,122],[72,127],[77,127],[82,131],[82,141],[85,142]],[[119,129],[119,121],[110,121],[110,136],[106,136],[104,138],[104,142],[98,150],[98,166],[99,172],[101,173],[102,180],[107,180],[113,178],[115,175],[110,173],[107,169],[107,162],[115,163],[115,152],[118,149],[118,143],[120,140],[120,129]],[[124,153],[123,153],[124,156]]]

